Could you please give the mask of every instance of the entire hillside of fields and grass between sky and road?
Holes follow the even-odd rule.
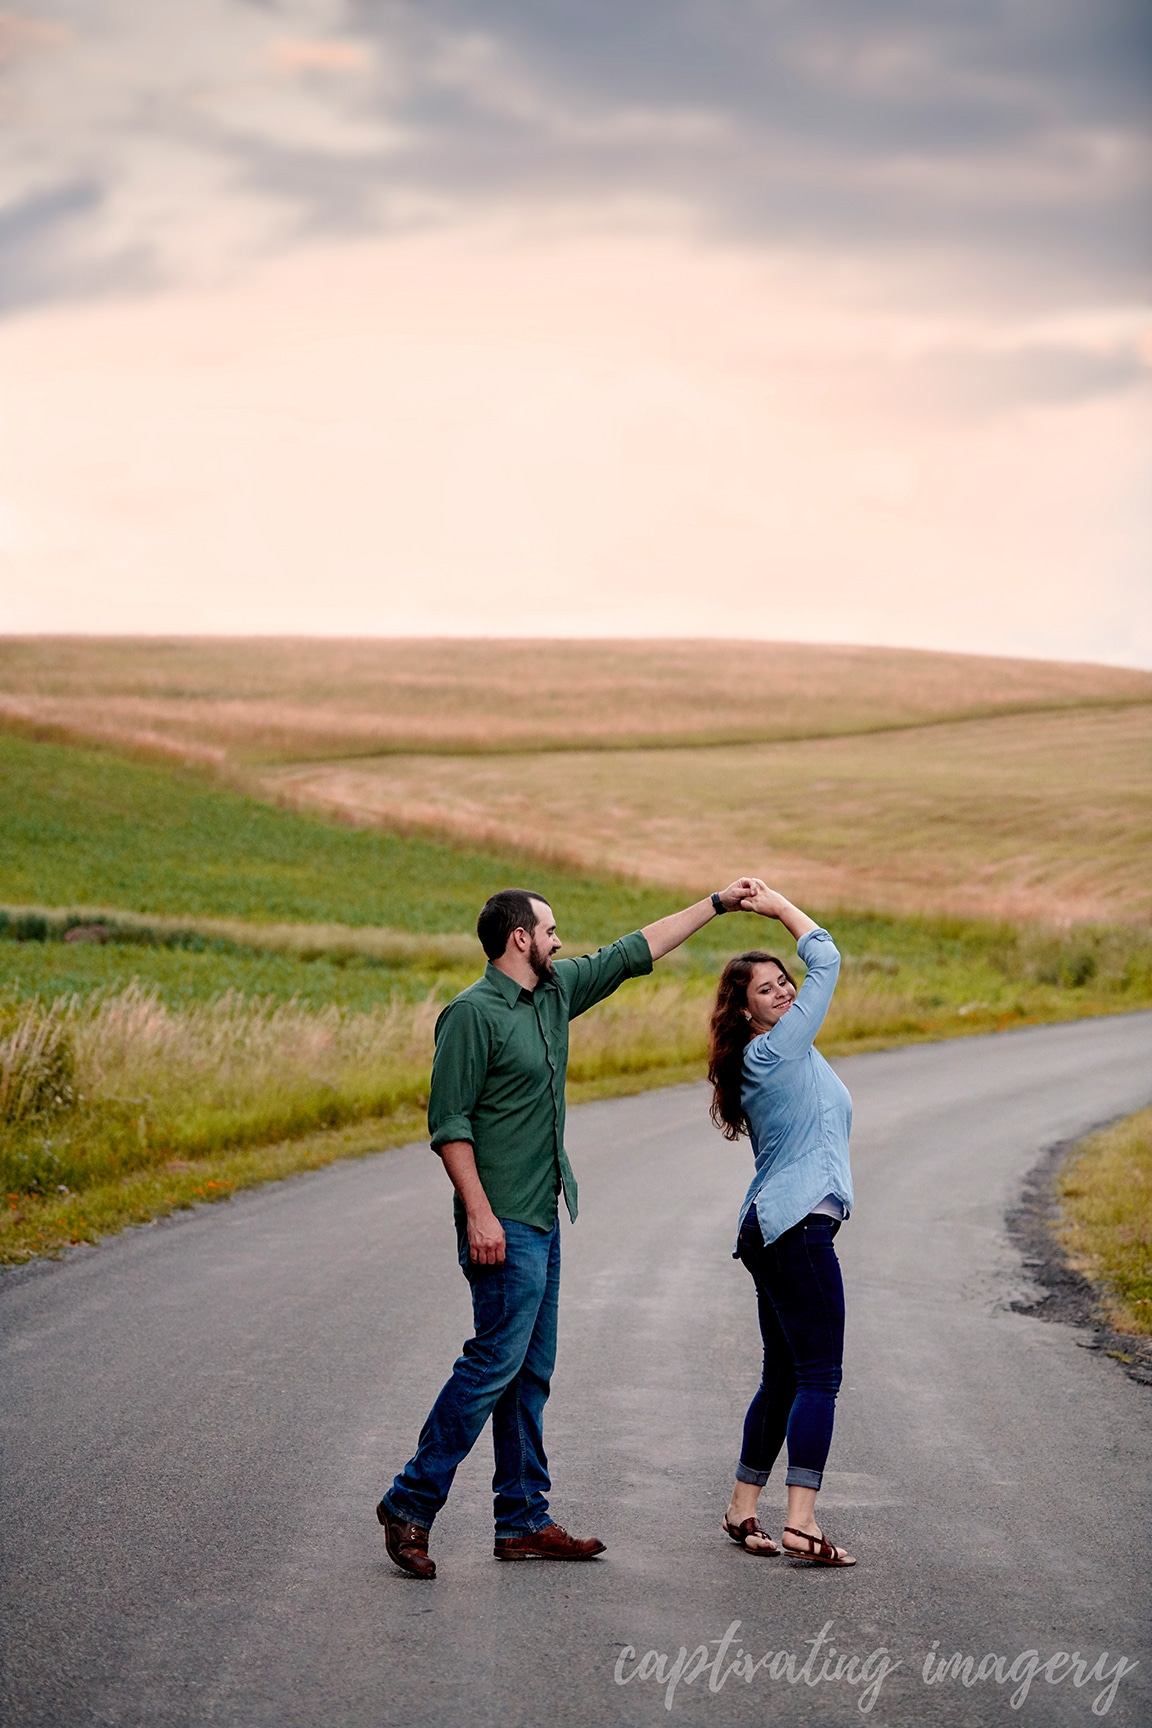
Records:
[[[767,874],[845,954],[826,1052],[1152,1004],[1145,674],[763,645],[2,646],[0,708],[35,712],[0,731],[0,1261],[420,1137],[435,1014],[511,883],[580,952]],[[116,707],[150,702],[161,762]],[[746,945],[793,952],[713,921],[584,1016],[573,1097],[698,1078]]]

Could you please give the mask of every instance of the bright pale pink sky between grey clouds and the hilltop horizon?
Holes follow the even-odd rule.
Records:
[[[983,385],[1010,349],[1147,346],[1140,311],[1036,327],[853,290],[687,235],[489,226],[12,318],[0,627],[1152,665],[1147,392]]]

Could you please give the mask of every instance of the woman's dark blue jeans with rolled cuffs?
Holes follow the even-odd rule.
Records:
[[[753,1206],[737,1251],[756,1284],[763,1377],[744,1417],[737,1483],[767,1483],[788,1439],[789,1488],[819,1488],[832,1443],[845,1356],[845,1286],[832,1237],[839,1223],[808,1213],[765,1246]]]

